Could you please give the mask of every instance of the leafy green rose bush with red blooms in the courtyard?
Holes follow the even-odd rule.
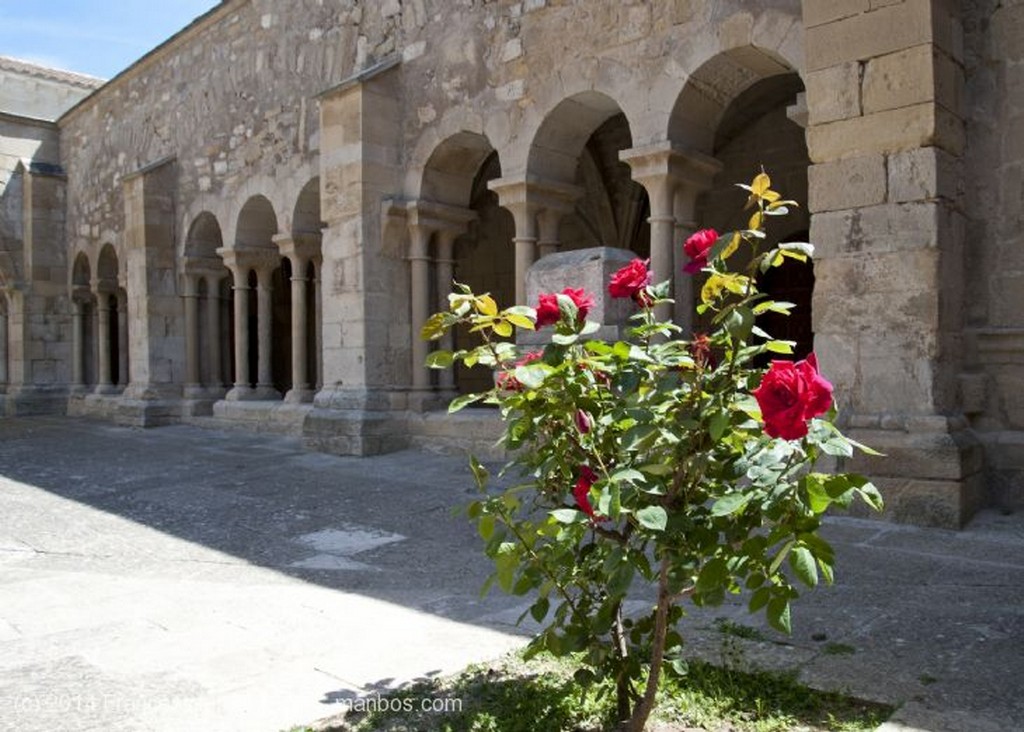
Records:
[[[742,186],[754,209],[745,228],[705,229],[685,244],[686,270],[703,279],[697,311],[708,333],[657,319],[669,284],[651,285],[642,260],[608,286],[637,306],[624,341],[589,338],[598,330],[586,320],[593,300],[569,288],[542,295],[537,308],[500,310],[460,286],[450,309],[423,328],[435,339],[465,325],[482,341],[434,351],[429,365],[462,361],[499,374],[495,389],[450,406],[497,404],[503,444],[515,455],[505,472],[517,481],[497,492],[471,460],[481,498],[468,513],[495,562],[488,587],[531,596],[527,612],[544,630],[530,653],[578,654],[581,683],[613,680],[624,729],[643,729],[666,670],[686,673],[686,603],[746,593],[751,612],[788,632],[799,585],[833,579],[822,515],[856,497],[882,507],[863,477],[818,469],[824,457],[867,448],[835,426],[831,386],[815,357],[776,360],[767,373],[757,365],[794,346],[759,328],[758,315],[793,305],[760,293],[758,274],[813,252],[768,245],[766,222],[795,205],[770,182],[762,173]],[[741,249],[744,266],[734,271]],[[515,329],[549,327],[550,343],[529,358],[505,340]]]

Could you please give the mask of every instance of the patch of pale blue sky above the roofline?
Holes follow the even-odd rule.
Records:
[[[0,55],[110,79],[218,0],[0,0]]]

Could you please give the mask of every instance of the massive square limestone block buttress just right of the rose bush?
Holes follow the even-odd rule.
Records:
[[[985,494],[956,390],[971,350],[959,12],[803,7],[815,351],[851,435],[887,456],[849,467],[894,518],[958,526]]]

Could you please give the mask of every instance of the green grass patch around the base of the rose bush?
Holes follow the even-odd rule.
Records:
[[[613,727],[610,684],[583,689],[566,660],[513,654],[446,678],[418,682],[349,713],[317,732],[598,732]],[[693,660],[682,679],[667,679],[648,723],[658,732],[866,732],[891,707],[819,692],[795,675],[721,669]],[[440,711],[459,701],[460,708]],[[423,711],[426,701],[435,709]],[[387,711],[381,711],[386,707]],[[357,707],[356,707],[357,708]],[[293,732],[312,732],[296,729]]]

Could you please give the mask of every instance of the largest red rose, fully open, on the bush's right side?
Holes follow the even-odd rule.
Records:
[[[807,420],[823,415],[831,406],[833,387],[818,374],[818,359],[772,361],[754,390],[761,406],[765,432],[771,437],[800,439],[807,434]]]

